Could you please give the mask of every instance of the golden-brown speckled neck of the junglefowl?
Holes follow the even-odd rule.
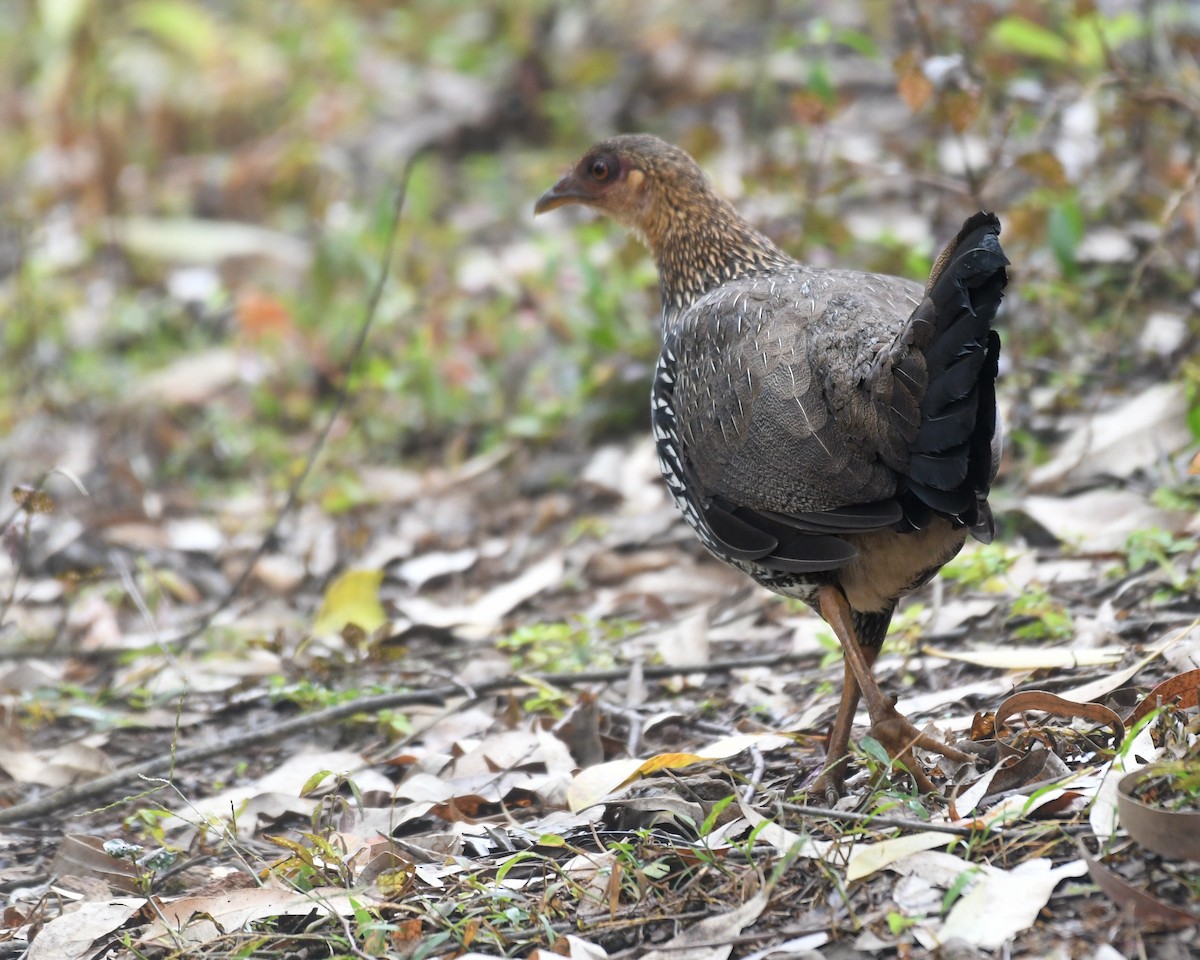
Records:
[[[714,193],[692,194],[664,208],[644,224],[644,233],[659,268],[667,329],[722,283],[792,262]]]

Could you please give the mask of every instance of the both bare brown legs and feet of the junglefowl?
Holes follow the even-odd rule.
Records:
[[[961,750],[922,733],[896,710],[895,701],[883,695],[871,673],[871,666],[878,652],[875,649],[864,650],[858,644],[846,595],[838,587],[826,584],[817,590],[817,602],[821,617],[833,628],[833,632],[841,644],[846,656],[846,670],[841,703],[838,704],[838,715],[834,718],[829,732],[826,768],[814,784],[814,790],[824,793],[827,799],[830,794],[836,799],[836,794],[840,793],[846,775],[850,730],[853,725],[859,695],[862,695],[863,700],[866,701],[866,712],[871,718],[870,734],[883,745],[889,757],[898,761],[912,774],[913,780],[917,781],[917,788],[922,793],[932,792],[934,784],[912,755],[913,746],[959,762],[970,762],[970,757]]]

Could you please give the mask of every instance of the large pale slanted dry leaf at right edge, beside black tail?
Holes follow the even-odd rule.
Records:
[[[1187,446],[1188,397],[1182,383],[1160,383],[1097,414],[1072,433],[1057,455],[1030,475],[1033,490],[1099,475],[1129,476]]]

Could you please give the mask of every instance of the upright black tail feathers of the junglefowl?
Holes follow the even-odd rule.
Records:
[[[1003,439],[996,415],[1000,336],[991,325],[1007,264],[1000,221],[974,214],[934,264],[913,318],[928,324],[928,385],[910,448],[905,512],[918,526],[930,511],[950,516],[984,542],[992,535],[988,491]]]

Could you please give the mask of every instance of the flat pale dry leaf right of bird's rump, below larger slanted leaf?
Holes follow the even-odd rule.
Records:
[[[1016,510],[1060,542],[1096,553],[1121,551],[1130,534],[1151,527],[1182,533],[1192,518],[1182,511],[1160,510],[1129,490],[1092,490],[1075,497],[1025,497]],[[1039,578],[1050,580],[1042,568]]]

